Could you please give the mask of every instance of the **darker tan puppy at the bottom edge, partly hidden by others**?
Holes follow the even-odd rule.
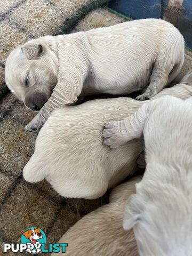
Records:
[[[66,253],[51,256],[138,256],[133,230],[125,231],[122,223],[125,202],[140,180],[138,176],[113,189],[109,204],[87,214],[61,237],[59,243],[68,243]]]

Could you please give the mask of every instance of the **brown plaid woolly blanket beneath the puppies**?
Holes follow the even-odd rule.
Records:
[[[0,255],[4,255],[3,243],[20,242],[21,234],[29,227],[41,228],[47,243],[55,243],[83,215],[108,202],[108,193],[92,201],[63,198],[46,181],[33,185],[23,180],[22,169],[33,154],[37,137],[24,127],[35,114],[9,93],[4,82],[7,54],[28,39],[110,26],[128,19],[102,6],[107,2],[18,0],[1,3]]]

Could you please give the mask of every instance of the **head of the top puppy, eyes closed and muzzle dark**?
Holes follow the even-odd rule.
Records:
[[[7,86],[31,110],[43,107],[57,83],[58,59],[53,41],[52,36],[31,40],[14,49],[6,61]]]

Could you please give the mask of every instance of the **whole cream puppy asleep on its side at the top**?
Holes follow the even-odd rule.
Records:
[[[150,99],[178,74],[184,40],[159,19],[127,21],[69,35],[33,39],[13,50],[5,65],[9,89],[38,111],[26,126],[42,127],[53,109],[87,94],[128,94]]]

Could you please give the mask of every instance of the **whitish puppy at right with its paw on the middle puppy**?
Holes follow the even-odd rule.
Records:
[[[139,254],[192,252],[192,97],[162,97],[134,115],[106,125],[111,148],[145,139],[146,172],[126,205],[124,228],[133,228]]]

